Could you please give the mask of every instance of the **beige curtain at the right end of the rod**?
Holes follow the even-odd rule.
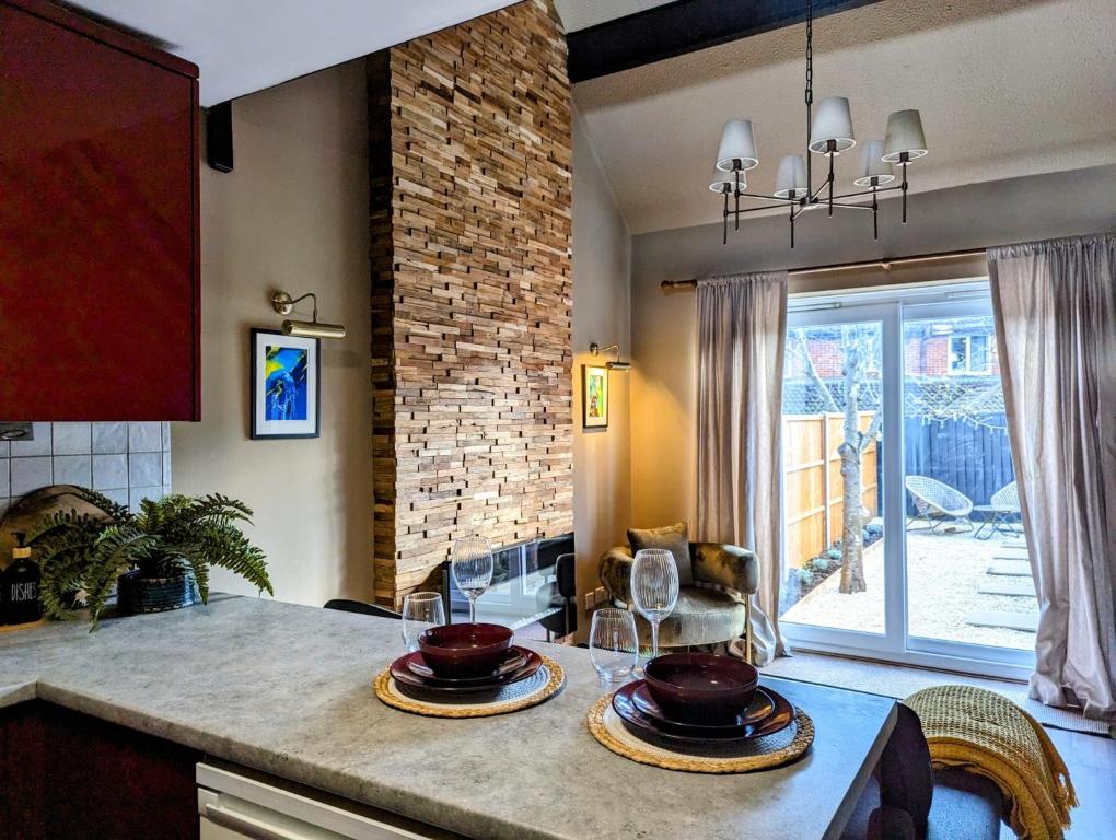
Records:
[[[988,260],[1041,607],[1031,697],[1116,712],[1116,234]]]

